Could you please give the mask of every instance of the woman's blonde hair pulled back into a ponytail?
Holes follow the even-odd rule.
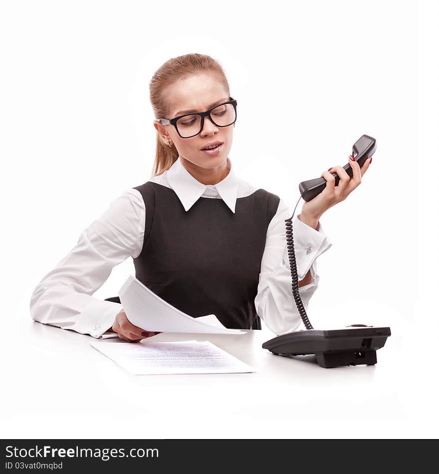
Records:
[[[177,82],[179,79],[199,72],[213,72],[219,75],[220,81],[225,86],[230,95],[227,78],[222,66],[211,56],[198,53],[185,54],[183,56],[173,57],[162,64],[154,73],[150,83],[150,101],[153,106],[155,118],[165,118],[168,113],[169,100],[163,96],[163,90],[166,86]],[[156,159],[153,166],[153,176],[158,176],[169,170],[176,162],[179,154],[173,144],[172,147],[166,146],[157,133]]]

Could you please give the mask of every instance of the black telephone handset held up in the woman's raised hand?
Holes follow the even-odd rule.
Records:
[[[377,149],[377,141],[375,138],[370,137],[369,135],[362,135],[352,146],[352,156],[355,158],[355,161],[363,166],[367,158],[370,158]],[[343,169],[352,178],[352,168],[349,163],[347,163]],[[335,186],[338,186],[340,177],[337,173],[331,173],[335,178]],[[326,188],[325,178],[317,178],[314,180],[302,181],[299,184],[299,191],[304,201],[311,201],[318,194],[320,194]]]

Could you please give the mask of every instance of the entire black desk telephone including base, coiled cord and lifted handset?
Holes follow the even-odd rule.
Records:
[[[371,157],[377,148],[375,138],[362,135],[352,147],[352,155],[360,166]],[[343,167],[352,178],[352,168],[348,163]],[[337,173],[335,185],[340,178]],[[299,184],[301,198],[310,201],[326,187],[324,178],[303,181]],[[299,198],[300,201],[300,198]],[[297,201],[297,204],[299,204]],[[297,207],[296,204],[296,207]],[[308,319],[299,293],[296,256],[294,253],[293,215],[285,220],[286,241],[291,269],[292,293],[299,310],[300,317],[306,330],[293,331],[274,337],[262,344],[273,354],[287,357],[305,354],[315,354],[320,367],[331,368],[345,365],[374,365],[377,363],[376,351],[384,346],[387,337],[391,335],[390,327],[374,327],[365,324],[352,324],[343,329],[319,330],[314,329]]]

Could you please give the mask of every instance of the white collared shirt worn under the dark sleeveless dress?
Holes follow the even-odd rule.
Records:
[[[183,167],[179,158],[169,170],[150,181],[173,189],[186,211],[198,199],[211,198],[222,199],[234,213],[236,199],[251,195],[257,188],[236,177],[228,158],[227,168],[229,173],[218,184],[204,185]],[[294,331],[301,324],[291,292],[285,239],[285,219],[290,217],[281,199],[267,229],[254,300],[257,314],[276,334]],[[312,277],[311,283],[299,288],[305,310],[319,283],[316,259],[332,245],[320,222],[317,229],[297,217],[293,222],[299,280],[308,270]],[[114,266],[129,256],[139,256],[144,232],[145,203],[138,190],[128,189],[81,233],[76,245],[37,284],[30,299],[32,319],[96,338],[118,337],[107,331],[122,305],[95,298],[93,293],[106,281]]]

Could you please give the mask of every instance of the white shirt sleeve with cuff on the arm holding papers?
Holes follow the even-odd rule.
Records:
[[[145,203],[135,189],[123,192],[82,231],[76,245],[35,287],[33,320],[95,338],[118,337],[111,328],[122,305],[93,297],[111,270],[143,245]]]

